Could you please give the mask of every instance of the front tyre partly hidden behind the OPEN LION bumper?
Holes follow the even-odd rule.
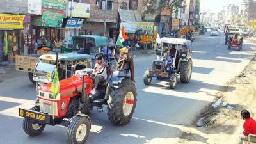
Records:
[[[38,106],[34,106],[31,108],[33,111],[40,111],[40,108]],[[36,122],[32,122],[31,120],[28,120],[27,118],[24,118],[23,120],[23,130],[28,134],[29,136],[38,136],[44,131],[45,124],[38,124]]]

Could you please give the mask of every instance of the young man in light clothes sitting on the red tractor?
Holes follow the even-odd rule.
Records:
[[[96,56],[96,65],[93,69],[92,74],[90,74],[91,77],[94,77],[95,82],[94,82],[94,88],[91,90],[91,94],[95,94],[95,90],[99,84],[99,82],[104,82],[106,79],[108,79],[109,76],[111,76],[112,71],[111,68],[107,63],[102,61],[102,55],[97,55]]]

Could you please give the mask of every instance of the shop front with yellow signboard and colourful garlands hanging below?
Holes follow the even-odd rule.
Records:
[[[16,54],[27,52],[20,44],[22,32],[30,33],[30,16],[0,14],[0,63],[13,63]]]

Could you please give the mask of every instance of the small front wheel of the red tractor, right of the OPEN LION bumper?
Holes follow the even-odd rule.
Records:
[[[76,116],[68,126],[68,144],[85,143],[91,129],[90,120],[84,116]]]

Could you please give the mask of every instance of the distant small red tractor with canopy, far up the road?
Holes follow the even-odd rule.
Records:
[[[230,31],[228,35],[228,49],[230,49],[231,47],[238,47],[238,50],[240,51],[243,46],[243,32]]]

